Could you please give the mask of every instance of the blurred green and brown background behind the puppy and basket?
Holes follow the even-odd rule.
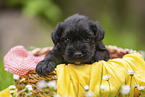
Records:
[[[3,56],[15,45],[27,49],[53,46],[58,22],[75,13],[105,29],[106,45],[145,50],[145,0],[0,0],[0,90],[13,83]]]

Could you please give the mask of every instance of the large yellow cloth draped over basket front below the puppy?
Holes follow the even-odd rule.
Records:
[[[92,65],[58,65],[57,93],[66,97],[84,97],[84,86],[89,85],[89,91],[94,92],[94,97],[99,97],[102,66],[103,75],[111,75],[109,79],[111,97],[117,94],[118,89],[124,84],[125,79],[127,84],[130,85],[130,75],[127,74],[128,70],[135,71],[132,84],[136,82],[141,86],[145,86],[145,61],[142,55],[134,53],[125,55],[122,59],[111,59],[108,62],[102,60]],[[108,90],[102,91],[103,97],[108,96],[108,82],[102,80],[102,85],[108,87]]]

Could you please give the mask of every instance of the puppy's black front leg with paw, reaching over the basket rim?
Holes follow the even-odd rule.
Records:
[[[58,64],[62,63],[63,58],[61,56],[58,48],[54,47],[53,50],[49,51],[45,58],[37,64],[36,72],[39,75],[46,75],[52,72]]]

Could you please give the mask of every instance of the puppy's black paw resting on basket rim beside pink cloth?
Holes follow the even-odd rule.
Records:
[[[50,62],[50,61],[45,61],[42,60],[40,61],[37,66],[36,66],[36,72],[39,75],[46,75],[50,72],[52,72],[55,69],[56,65],[54,62]]]

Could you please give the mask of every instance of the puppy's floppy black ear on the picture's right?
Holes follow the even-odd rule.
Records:
[[[105,36],[105,30],[97,22],[91,21],[90,29],[94,32],[96,41],[101,41]]]

